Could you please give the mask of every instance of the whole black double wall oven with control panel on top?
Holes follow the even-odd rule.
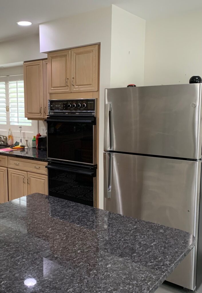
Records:
[[[48,104],[48,194],[96,206],[96,99]]]

